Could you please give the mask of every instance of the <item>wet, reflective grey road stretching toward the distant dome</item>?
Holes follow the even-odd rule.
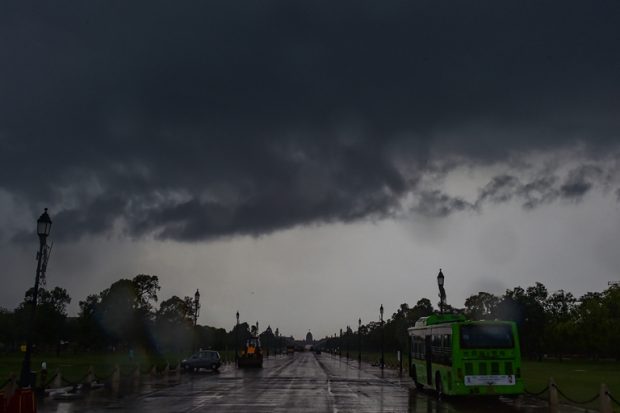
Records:
[[[296,353],[265,360],[262,369],[223,366],[180,382],[145,384],[136,394],[94,391],[81,400],[46,400],[40,412],[530,412],[547,409],[523,398],[437,401],[408,377],[329,354]]]

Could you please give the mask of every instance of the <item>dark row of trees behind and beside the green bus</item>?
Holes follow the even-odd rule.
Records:
[[[603,292],[589,292],[577,298],[558,290],[549,293],[540,282],[533,286],[508,289],[503,295],[479,292],[465,300],[463,308],[447,305],[446,312],[464,313],[471,320],[514,321],[519,330],[521,352],[525,357],[620,359],[620,286]],[[401,304],[383,326],[373,321],[354,331],[347,326],[323,340],[330,349],[356,352],[408,351],[407,328],[420,317],[437,312],[431,301],[420,299],[413,307]],[[357,330],[357,329],[356,329]]]

